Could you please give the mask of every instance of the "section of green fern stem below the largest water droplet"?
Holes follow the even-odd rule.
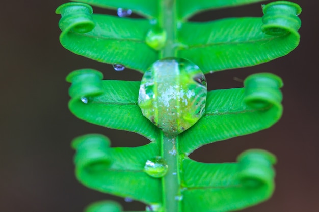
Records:
[[[168,164],[167,174],[162,178],[163,207],[165,212],[181,211],[181,191],[178,158],[178,136],[167,136],[163,132],[161,155]]]

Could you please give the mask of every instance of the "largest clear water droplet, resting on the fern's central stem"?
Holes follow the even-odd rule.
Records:
[[[205,76],[197,65],[182,58],[165,58],[144,73],[138,104],[154,125],[176,136],[202,117],[206,96]],[[176,154],[176,149],[169,151]]]

